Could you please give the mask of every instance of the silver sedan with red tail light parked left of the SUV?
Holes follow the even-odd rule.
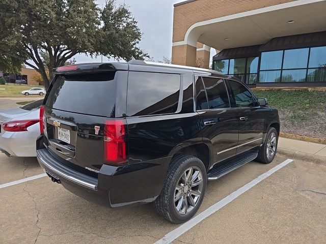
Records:
[[[8,157],[36,157],[43,99],[0,111],[0,151]]]

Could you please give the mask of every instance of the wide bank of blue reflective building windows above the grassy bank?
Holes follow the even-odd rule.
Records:
[[[262,52],[259,82],[326,81],[326,47]]]

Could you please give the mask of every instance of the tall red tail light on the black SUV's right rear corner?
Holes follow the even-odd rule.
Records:
[[[108,164],[122,165],[126,162],[124,120],[107,120],[104,128],[104,159]]]

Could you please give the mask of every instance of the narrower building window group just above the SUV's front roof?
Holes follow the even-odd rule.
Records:
[[[243,83],[255,84],[257,81],[258,57],[216,60],[213,67],[214,70],[234,76]]]

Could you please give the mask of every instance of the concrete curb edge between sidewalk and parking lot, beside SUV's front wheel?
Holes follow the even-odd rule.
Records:
[[[289,159],[302,160],[302,161],[312,162],[315,164],[326,164],[326,157],[322,157],[314,154],[306,154],[306,153],[302,153],[301,151],[285,149],[282,147],[277,148],[277,154],[280,156],[287,157]]]

